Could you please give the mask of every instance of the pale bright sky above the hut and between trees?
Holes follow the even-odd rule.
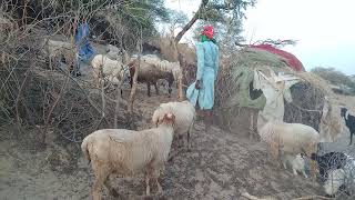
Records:
[[[166,7],[182,10],[189,19],[200,0],[166,0]],[[257,0],[246,10],[242,36],[247,43],[265,39],[293,39],[283,48],[295,54],[308,71],[333,67],[355,74],[354,0]],[[179,32],[179,29],[175,31]],[[192,36],[190,31],[183,41]]]

